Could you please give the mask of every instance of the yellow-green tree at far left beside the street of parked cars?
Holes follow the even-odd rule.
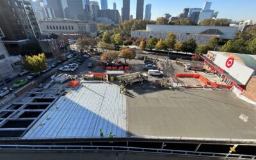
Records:
[[[30,72],[41,72],[47,68],[44,53],[33,56],[25,56],[22,60],[22,67]]]

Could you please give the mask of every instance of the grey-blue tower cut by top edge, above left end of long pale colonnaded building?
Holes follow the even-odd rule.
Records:
[[[54,14],[57,18],[64,18],[61,0],[47,0],[47,6],[54,10]]]

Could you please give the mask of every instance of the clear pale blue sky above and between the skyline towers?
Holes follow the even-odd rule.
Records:
[[[96,0],[100,4],[100,0]],[[211,10],[219,12],[217,18],[232,20],[256,21],[256,0],[209,0],[212,2]],[[108,8],[113,9],[113,3],[121,14],[122,0],[108,0]],[[184,8],[203,8],[205,0],[144,0],[144,5],[152,4],[152,20],[163,17],[164,13],[176,16]],[[131,0],[131,15],[136,17],[136,0]],[[145,6],[144,6],[145,13]]]

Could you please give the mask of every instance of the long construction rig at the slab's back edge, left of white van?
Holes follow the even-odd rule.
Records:
[[[134,83],[141,83],[148,80],[148,75],[142,72],[136,72],[133,74],[125,74],[124,76],[117,76],[120,84],[127,86]]]

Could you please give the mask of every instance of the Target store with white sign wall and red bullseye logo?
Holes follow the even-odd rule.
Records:
[[[208,51],[201,57],[205,70],[216,74],[223,83],[232,85],[233,92],[247,94],[246,97],[256,101],[255,55]]]

